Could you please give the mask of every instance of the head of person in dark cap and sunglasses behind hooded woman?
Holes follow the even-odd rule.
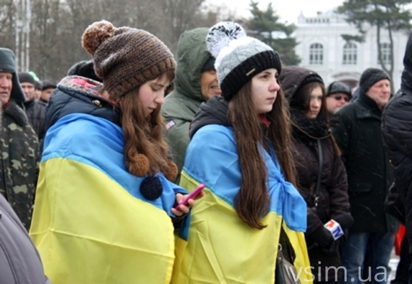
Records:
[[[335,111],[349,104],[351,98],[352,92],[347,84],[339,81],[330,83],[326,91],[327,111],[330,114],[334,114]]]

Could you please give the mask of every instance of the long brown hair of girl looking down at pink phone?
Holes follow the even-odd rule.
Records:
[[[171,82],[175,73],[169,71],[161,75]],[[161,106],[148,115],[139,99],[136,87],[120,97],[121,128],[124,133],[124,159],[132,175],[140,176],[142,168],[141,155],[148,160],[148,175],[169,170],[168,146],[163,140],[162,130],[165,126],[161,116]],[[146,167],[144,167],[146,168]]]

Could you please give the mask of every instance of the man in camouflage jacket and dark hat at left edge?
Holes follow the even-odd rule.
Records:
[[[38,138],[21,107],[25,101],[14,54],[0,48],[0,193],[29,229],[38,169]]]

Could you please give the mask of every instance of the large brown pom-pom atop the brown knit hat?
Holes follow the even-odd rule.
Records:
[[[85,50],[94,55],[99,45],[104,40],[114,35],[115,28],[112,23],[108,21],[99,21],[92,23],[86,28],[85,33],[82,35],[82,46]]]

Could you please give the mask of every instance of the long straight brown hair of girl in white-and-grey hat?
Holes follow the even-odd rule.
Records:
[[[286,180],[296,182],[288,105],[281,89],[278,90],[273,109],[265,115],[270,121],[268,129],[262,128],[251,104],[251,81],[229,102],[228,119],[234,129],[242,171],[242,185],[236,197],[235,209],[240,219],[256,229],[266,227],[261,217],[268,212],[270,204],[266,188],[268,170],[258,147],[260,144],[268,148],[265,138],[273,145]]]

